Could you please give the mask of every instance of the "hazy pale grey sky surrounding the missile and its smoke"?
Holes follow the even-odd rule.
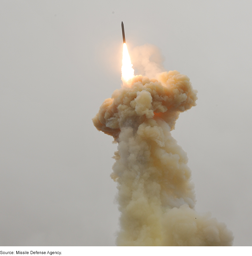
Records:
[[[165,69],[198,90],[172,131],[196,210],[225,222],[235,246],[252,246],[251,9],[245,0],[1,0],[0,246],[115,245],[116,145],[91,118],[121,86],[121,21],[129,54],[156,45]]]

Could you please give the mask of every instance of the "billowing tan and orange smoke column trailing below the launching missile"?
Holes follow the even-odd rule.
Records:
[[[151,73],[150,61],[144,62]],[[158,66],[154,64],[156,70]],[[137,75],[124,81],[93,118],[97,130],[118,143],[111,174],[121,211],[118,246],[233,244],[224,223],[195,211],[188,159],[171,136],[180,112],[196,106],[196,93],[178,71],[155,79]]]

